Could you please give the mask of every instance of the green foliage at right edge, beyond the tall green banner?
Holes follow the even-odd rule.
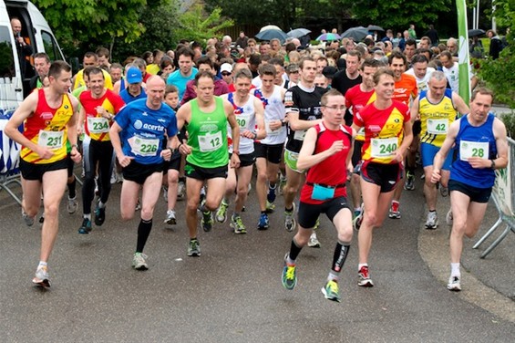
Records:
[[[512,26],[515,23],[515,3],[512,0],[496,0],[494,15],[500,26]],[[479,78],[487,83],[487,87],[495,92],[496,101],[507,104],[515,109],[515,44],[513,44],[513,33],[506,37],[510,42],[505,47],[498,59],[480,60],[478,70]],[[487,47],[485,47],[485,51]]]

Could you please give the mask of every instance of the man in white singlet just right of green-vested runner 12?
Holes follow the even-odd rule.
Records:
[[[221,200],[216,212],[216,220],[224,223],[227,219],[227,207],[229,199],[236,192],[234,201],[234,213],[231,217],[231,227],[234,234],[246,234],[247,229],[242,222],[240,213],[247,200],[249,183],[252,180],[252,168],[256,161],[254,153],[254,140],[262,140],[266,137],[263,120],[263,103],[260,99],[249,93],[251,89],[252,74],[249,69],[241,69],[234,75],[234,87],[236,91],[222,96],[232,104],[234,115],[240,127],[240,166],[229,168],[227,182],[225,184],[225,199]],[[257,130],[255,130],[257,128]],[[254,132],[255,130],[255,132]],[[231,132],[230,138],[234,135]],[[229,146],[232,153],[232,145]]]

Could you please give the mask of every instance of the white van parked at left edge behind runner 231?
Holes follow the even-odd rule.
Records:
[[[0,0],[0,191],[2,174],[11,172],[17,165],[19,147],[3,132],[6,120],[30,92],[29,81],[35,76],[32,59],[25,60],[26,71],[22,76],[20,59],[11,28],[11,18],[22,23],[21,36],[32,47],[33,54],[46,52],[50,60],[64,60],[57,40],[45,18],[34,4],[27,0]]]

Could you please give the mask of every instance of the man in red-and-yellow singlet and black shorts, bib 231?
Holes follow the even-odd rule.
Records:
[[[63,61],[52,63],[48,80],[50,85],[32,92],[5,125],[5,134],[23,146],[22,214],[27,225],[34,224],[41,192],[45,194],[40,261],[32,281],[46,287],[50,286],[47,262],[57,238],[59,203],[67,187],[67,142],[71,145],[70,158],[76,163],[81,160],[76,130],[78,101],[67,94],[71,67]],[[21,133],[18,128],[24,122]]]

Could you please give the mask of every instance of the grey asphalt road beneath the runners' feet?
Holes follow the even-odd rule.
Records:
[[[512,342],[513,322],[449,292],[421,258],[420,186],[405,192],[402,218],[387,219],[376,230],[369,264],[372,288],[356,285],[353,239],[339,304],[320,291],[335,244],[325,217],[318,234],[322,247],[304,248],[297,260],[299,283],[288,291],[281,285],[281,271],[293,234],[283,229],[282,210],[271,215],[268,231],[258,232],[252,191],[242,214],[248,234],[235,235],[228,223],[217,224],[211,233],[199,235],[202,255],[195,258],[186,255],[184,202],[178,203],[178,225],[170,229],[161,224],[166,208],[160,199],[145,249],[149,270],[139,272],[130,267],[139,220],[120,221],[119,185],[111,193],[106,223],[88,235],[77,234],[80,211],[69,215],[62,203],[49,262],[52,287],[41,291],[31,283],[40,230],[27,228],[19,206],[0,192],[0,340]],[[278,197],[277,208],[282,204]],[[435,249],[441,251],[448,252]],[[441,267],[447,270],[448,261]]]

